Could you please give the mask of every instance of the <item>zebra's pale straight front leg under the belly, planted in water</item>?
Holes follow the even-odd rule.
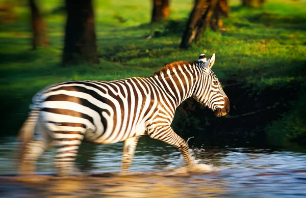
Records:
[[[124,141],[122,159],[121,159],[121,171],[127,172],[132,164],[135,149],[140,136],[130,137]]]

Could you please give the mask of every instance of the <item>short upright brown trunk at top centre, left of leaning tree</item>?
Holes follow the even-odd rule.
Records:
[[[169,0],[153,0],[151,22],[158,22],[170,15]]]

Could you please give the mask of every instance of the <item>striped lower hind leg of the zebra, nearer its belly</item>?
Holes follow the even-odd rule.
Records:
[[[56,167],[60,176],[80,175],[80,169],[75,165],[79,147],[84,135],[80,131],[55,131],[54,139],[58,146]]]

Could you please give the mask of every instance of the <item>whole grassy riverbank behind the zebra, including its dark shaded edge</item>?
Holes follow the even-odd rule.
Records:
[[[149,1],[133,0],[129,4],[125,1],[118,4],[96,2],[100,64],[81,64],[69,68],[60,65],[65,13],[58,8],[63,6],[62,2],[54,0],[41,4],[50,46],[36,51],[30,50],[28,7],[20,5],[16,8],[16,22],[0,24],[0,105],[4,115],[1,120],[2,136],[17,133],[28,115],[32,96],[48,84],[64,80],[145,77],[167,63],[196,60],[200,53],[208,56],[216,53],[213,70],[230,97],[231,117],[211,121],[215,118],[206,118],[211,115],[209,110],[199,106],[196,109],[201,110],[197,112],[189,107],[181,109],[178,118],[186,116],[180,112],[188,109],[193,112],[189,112],[189,115],[197,118],[181,120],[181,125],[176,125],[177,130],[182,130],[180,133],[184,135],[184,131],[192,127],[200,134],[199,139],[211,136],[201,131],[212,129],[219,134],[237,134],[228,139],[244,137],[245,133],[260,133],[259,143],[266,137],[270,137],[270,143],[276,143],[278,140],[275,139],[284,142],[304,138],[305,119],[301,116],[303,111],[299,110],[305,109],[303,101],[306,100],[305,94],[301,92],[306,81],[304,1],[278,0],[268,2],[261,9],[243,8],[238,1],[233,1],[230,18],[224,19],[225,30],[207,31],[198,43],[188,50],[180,50],[178,46],[192,3],[173,2],[168,21],[149,24]],[[203,122],[205,119],[209,121]],[[224,124],[226,119],[236,128]],[[237,126],[240,130],[237,130]],[[293,138],[288,138],[287,133],[292,126],[295,131],[289,136]],[[279,129],[286,130],[279,133]],[[279,137],[279,134],[282,136]],[[216,136],[216,139],[222,141],[225,137]]]

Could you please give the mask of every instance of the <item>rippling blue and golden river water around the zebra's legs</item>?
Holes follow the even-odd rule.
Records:
[[[0,142],[0,197],[306,197],[305,151],[203,146],[193,152],[210,171],[187,173],[185,167],[170,168],[178,165],[180,152],[143,137],[131,175],[118,174],[122,143],[84,144],[77,162],[92,176],[48,175],[55,171],[50,149],[39,160],[39,174],[20,182],[4,176],[16,173],[14,147],[12,139]]]

